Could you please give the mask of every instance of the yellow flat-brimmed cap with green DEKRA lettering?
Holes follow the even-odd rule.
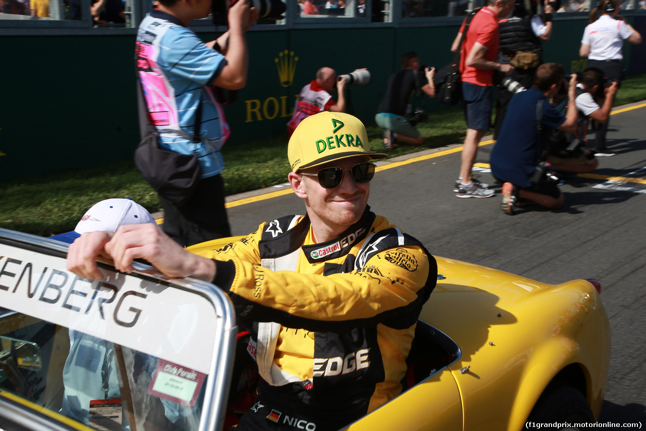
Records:
[[[342,112],[308,116],[298,124],[287,146],[292,172],[355,155],[367,155],[370,160],[388,157],[370,151],[366,127],[359,118]]]

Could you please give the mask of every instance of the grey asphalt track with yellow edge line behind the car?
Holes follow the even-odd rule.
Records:
[[[455,197],[461,155],[455,145],[386,162],[372,181],[370,204],[437,256],[547,283],[598,279],[612,331],[600,421],[646,426],[646,104],[614,111],[608,146],[618,155],[599,158],[598,177],[568,179],[561,186],[565,205],[557,211],[534,206],[507,216],[499,209],[501,186],[486,169],[493,144],[480,147],[477,162],[481,181],[494,184],[495,197]],[[253,232],[261,221],[303,214],[298,197],[280,192],[286,188],[271,188],[274,193],[262,200],[254,197],[258,193],[229,197],[233,234]]]

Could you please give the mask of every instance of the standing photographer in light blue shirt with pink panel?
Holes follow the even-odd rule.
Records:
[[[202,167],[200,182],[186,203],[176,204],[160,193],[163,230],[186,247],[231,236],[220,175],[224,170],[220,148],[231,131],[212,87],[245,86],[249,55],[244,33],[258,13],[247,0],[238,0],[228,12],[229,30],[203,43],[188,25],[209,16],[211,0],[158,0],[156,4],[141,21],[136,61],[147,121],[159,133],[160,148],[196,154]]]

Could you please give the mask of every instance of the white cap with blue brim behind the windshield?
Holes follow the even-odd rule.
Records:
[[[114,232],[121,225],[143,225],[144,223],[156,222],[146,208],[132,199],[105,199],[87,210],[72,232],[50,238],[71,244],[85,232],[95,230]]]

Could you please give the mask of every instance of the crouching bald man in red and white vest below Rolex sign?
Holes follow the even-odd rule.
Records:
[[[294,114],[287,123],[287,135],[291,137],[294,130],[310,115],[322,111],[344,112],[346,110],[346,98],[343,89],[346,87],[346,78],[337,79],[337,72],[329,67],[318,69],[317,78],[308,83],[300,91]],[[333,89],[339,93],[339,102],[335,102],[329,94]]]

